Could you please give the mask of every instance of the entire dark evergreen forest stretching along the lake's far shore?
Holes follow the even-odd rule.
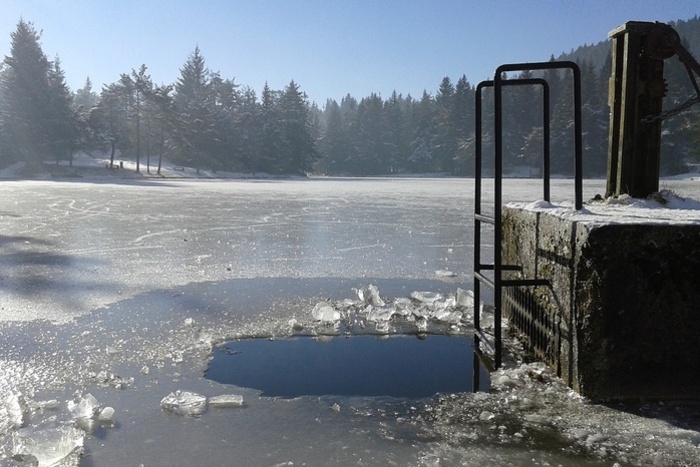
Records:
[[[700,56],[700,20],[671,25]],[[258,96],[212,72],[195,48],[169,85],[155,85],[146,64],[94,90],[90,78],[72,91],[59,58],[49,60],[40,33],[20,20],[0,68],[0,168],[71,161],[78,151],[104,151],[112,163],[135,160],[160,172],[164,161],[214,171],[273,175],[473,175],[475,87],[466,74],[445,77],[419,97],[372,93],[320,107],[293,80],[267,84]],[[574,60],[582,71],[584,176],[604,176],[608,138],[611,43],[583,45],[550,60]],[[468,66],[468,64],[465,64]],[[551,92],[552,172],[573,172],[572,78],[546,71]],[[512,78],[532,77],[524,72]],[[695,95],[680,61],[665,63],[665,108]],[[504,168],[537,175],[542,154],[541,90],[504,89]],[[485,155],[492,149],[492,96],[483,96]],[[700,158],[700,105],[663,124],[662,173],[688,170]]]

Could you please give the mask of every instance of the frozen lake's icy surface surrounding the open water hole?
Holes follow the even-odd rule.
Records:
[[[697,185],[667,186],[698,198]],[[513,180],[505,196],[540,190]],[[573,182],[552,191],[572,200]],[[587,182],[584,199],[603,191]],[[0,200],[4,465],[81,442],[66,465],[700,462],[697,407],[589,404],[538,365],[494,375],[489,394],[422,399],[278,399],[204,378],[217,343],[333,334],[312,310],[353,289],[470,289],[472,180],[3,181]],[[161,408],[178,390],[244,403]],[[76,422],[88,394],[114,415]]]

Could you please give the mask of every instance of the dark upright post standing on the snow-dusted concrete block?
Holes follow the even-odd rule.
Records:
[[[661,112],[665,94],[663,58],[647,44],[657,23],[629,21],[610,32],[610,134],[606,196],[646,198],[659,190],[661,121],[644,122]]]

